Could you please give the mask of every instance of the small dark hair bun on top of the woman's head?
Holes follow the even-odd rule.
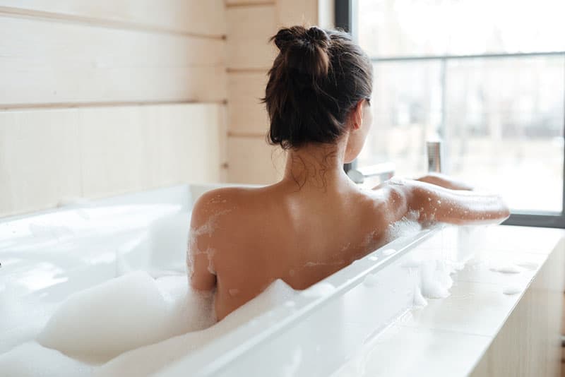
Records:
[[[328,33],[317,26],[280,29],[272,38],[288,69],[313,77],[325,77],[330,68]]]

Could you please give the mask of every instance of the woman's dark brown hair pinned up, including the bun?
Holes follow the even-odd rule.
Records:
[[[280,50],[265,98],[269,142],[284,149],[333,143],[359,100],[369,100],[369,57],[338,30],[283,28],[270,39]]]

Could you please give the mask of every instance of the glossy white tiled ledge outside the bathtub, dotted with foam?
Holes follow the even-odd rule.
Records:
[[[480,232],[444,229],[417,246],[416,252],[443,254],[444,258],[457,256],[462,248],[472,253],[465,268],[452,275],[451,296],[430,299],[427,306],[410,310],[359,346],[333,376],[467,375],[564,234],[561,229],[527,227],[489,227]],[[492,270],[509,263],[522,266],[521,273]],[[521,292],[503,294],[504,287],[511,285]],[[536,292],[539,294],[542,292]]]

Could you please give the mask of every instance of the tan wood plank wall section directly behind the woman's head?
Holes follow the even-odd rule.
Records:
[[[268,42],[290,25],[317,25],[319,0],[226,0],[228,180],[268,184],[284,172],[285,153],[266,142],[260,98],[276,56]]]

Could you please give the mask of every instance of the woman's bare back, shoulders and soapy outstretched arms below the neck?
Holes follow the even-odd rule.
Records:
[[[444,177],[428,176],[387,181],[373,191],[347,179],[328,187],[301,188],[283,180],[264,188],[209,191],[192,214],[191,285],[215,288],[216,316],[222,319],[277,279],[305,289],[367,255],[389,241],[390,225],[409,213],[424,223],[508,217],[499,196],[457,188]]]

